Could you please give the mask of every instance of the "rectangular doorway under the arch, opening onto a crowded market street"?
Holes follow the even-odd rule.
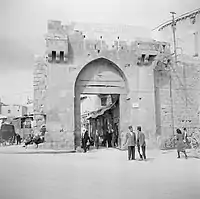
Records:
[[[91,146],[119,146],[119,94],[81,95],[81,132],[87,130]]]

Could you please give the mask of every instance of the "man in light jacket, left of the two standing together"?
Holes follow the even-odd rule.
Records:
[[[136,145],[136,135],[133,131],[133,127],[128,127],[129,132],[126,134],[126,140],[124,146],[128,145],[128,160],[135,160],[135,145]]]

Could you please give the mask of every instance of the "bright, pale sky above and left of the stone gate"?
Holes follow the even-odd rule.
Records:
[[[129,24],[154,28],[199,8],[199,0],[0,0],[0,97],[32,96],[34,54],[45,51],[47,20]]]

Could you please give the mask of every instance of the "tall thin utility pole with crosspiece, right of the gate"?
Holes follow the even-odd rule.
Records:
[[[173,31],[173,42],[174,42],[174,55],[175,55],[175,68],[177,64],[177,51],[176,51],[176,33],[175,33],[175,12],[170,12],[172,14],[172,31]],[[172,133],[174,135],[174,107],[173,107],[173,92],[172,92],[172,70],[170,73],[170,101],[171,101],[171,121],[172,121]]]

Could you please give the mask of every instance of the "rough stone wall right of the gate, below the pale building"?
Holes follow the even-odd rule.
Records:
[[[162,141],[175,134],[176,128],[189,131],[199,127],[200,60],[189,56],[179,57],[178,64],[170,71],[155,73],[157,91],[157,134]],[[170,97],[170,74],[172,97]],[[173,110],[172,110],[173,104]],[[174,130],[172,129],[172,113]]]

